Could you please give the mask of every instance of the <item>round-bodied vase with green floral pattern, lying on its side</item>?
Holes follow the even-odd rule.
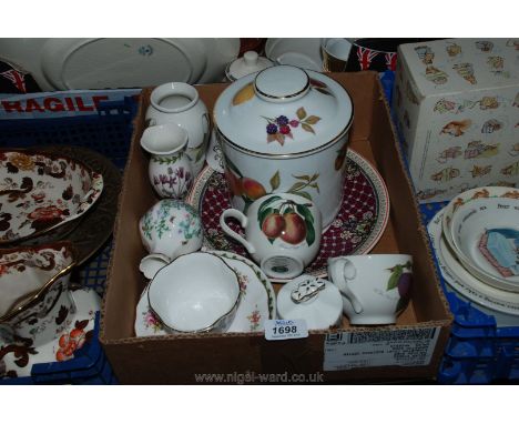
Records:
[[[139,230],[150,252],[139,266],[147,279],[181,254],[202,248],[200,215],[193,206],[179,200],[163,199],[155,203],[139,221]]]

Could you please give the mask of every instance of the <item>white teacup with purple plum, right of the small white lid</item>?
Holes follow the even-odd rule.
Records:
[[[343,294],[343,311],[352,324],[394,324],[409,301],[413,258],[408,254],[330,258],[328,277]]]

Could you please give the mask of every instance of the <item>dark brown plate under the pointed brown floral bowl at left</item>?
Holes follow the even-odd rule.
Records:
[[[73,145],[52,145],[41,149],[45,152],[62,152],[71,159],[81,160],[94,172],[103,175],[103,193],[99,201],[81,220],[79,225],[65,236],[78,252],[78,266],[94,254],[112,234],[121,191],[121,171],[112,161],[91,149]]]

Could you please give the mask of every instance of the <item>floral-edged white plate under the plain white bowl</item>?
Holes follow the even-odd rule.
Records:
[[[268,279],[243,256],[223,251],[210,252],[222,258],[238,274],[242,287],[242,300],[226,333],[263,331],[264,321],[276,316],[276,296]],[[134,329],[138,337],[170,334],[150,310],[147,286],[136,306]]]

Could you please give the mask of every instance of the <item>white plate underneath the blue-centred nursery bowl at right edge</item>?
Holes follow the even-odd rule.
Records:
[[[471,302],[486,309],[497,311],[493,314],[496,321],[502,315],[505,315],[507,321],[510,321],[510,315],[513,315],[519,324],[519,294],[502,291],[482,283],[461,266],[449,251],[447,243],[441,238],[444,211],[445,209],[436,214],[427,225],[427,230],[445,281],[456,292],[459,292]]]

